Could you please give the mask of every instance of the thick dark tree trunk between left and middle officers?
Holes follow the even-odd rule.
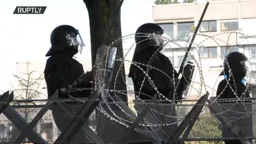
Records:
[[[107,34],[107,30],[110,27],[114,13],[117,11],[117,7],[120,4],[120,0],[83,0],[89,14],[90,21],[90,33],[91,33],[91,62],[94,64],[98,47],[104,41],[104,37]],[[107,37],[106,45],[114,42],[118,38],[122,37],[121,23],[120,23],[120,11],[117,12],[114,24],[110,30],[110,34]],[[117,45],[117,59],[123,59],[123,45],[118,43]],[[115,90],[126,91],[126,77],[124,66],[121,66],[121,60],[115,62],[114,77],[117,77]],[[121,71],[117,74],[117,71]],[[114,83],[114,82],[113,82]],[[114,84],[113,84],[114,85]],[[112,85],[112,88],[113,88]],[[123,101],[127,102],[126,94],[120,94]]]

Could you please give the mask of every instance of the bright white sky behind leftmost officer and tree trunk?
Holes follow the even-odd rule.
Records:
[[[201,2],[204,0],[197,0]],[[122,35],[135,33],[144,23],[152,21],[155,0],[124,0],[121,8]],[[13,14],[17,6],[46,6],[44,14]],[[82,0],[6,0],[0,2],[0,85],[11,82],[16,63],[46,61],[50,34],[69,24],[80,31],[85,42],[78,59],[91,59],[88,11]]]

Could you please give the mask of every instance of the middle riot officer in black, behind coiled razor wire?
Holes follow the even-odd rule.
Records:
[[[173,68],[171,61],[161,52],[165,45],[162,34],[164,34],[162,27],[152,23],[142,24],[136,30],[136,48],[128,76],[133,80],[136,101],[138,102],[140,101],[139,99],[148,101],[155,94],[157,94],[158,100],[166,100],[165,98],[169,100],[181,100],[183,91],[190,84],[194,66],[185,66],[184,75],[179,80],[177,78],[178,73]],[[141,111],[139,111],[140,106],[138,102],[134,104],[134,107],[139,115]],[[170,103],[169,101],[158,102]],[[153,106],[152,109],[158,112],[161,111],[161,114],[150,111],[149,113],[153,115],[152,117],[157,117],[157,121],[162,120],[160,123],[169,124],[164,127],[150,128],[156,131],[156,133],[162,133],[162,140],[165,141],[167,140],[165,136],[171,136],[178,129],[178,123],[175,118],[177,117],[175,105],[169,104],[168,107]],[[163,117],[163,115],[170,117]],[[154,120],[149,118],[147,119],[147,123],[154,123]]]

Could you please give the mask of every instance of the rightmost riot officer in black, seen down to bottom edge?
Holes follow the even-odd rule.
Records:
[[[250,98],[249,92],[246,90],[246,86],[243,83],[243,78],[245,78],[245,75],[247,74],[247,71],[248,71],[248,68],[246,66],[247,60],[248,60],[247,57],[243,53],[239,53],[239,52],[232,52],[226,56],[223,62],[224,69],[220,73],[220,75],[226,75],[226,78],[223,79],[221,82],[219,82],[218,89],[216,91],[217,98]],[[251,102],[251,101],[242,101],[242,102]],[[224,112],[229,116],[231,123],[236,123],[238,127],[240,127],[240,124],[242,123],[242,121],[244,121],[243,123],[248,123],[248,125],[250,126],[250,123],[251,123],[250,118],[245,117],[244,116],[245,113],[236,112],[237,110],[245,109],[245,105],[241,105],[241,103],[235,104],[235,101],[234,102],[219,101],[219,103],[222,104],[222,107],[225,107]],[[234,110],[235,108],[238,108],[238,109]],[[232,110],[229,111],[229,109],[232,109]],[[241,120],[237,120],[237,119],[241,119]],[[223,138],[236,137],[232,133],[232,131],[229,130],[229,127],[227,127],[225,123],[224,124],[222,123],[220,127],[222,129]],[[240,129],[240,130],[243,130],[243,129]],[[250,133],[249,128],[245,131],[246,133]],[[225,140],[225,143],[226,144],[242,144],[240,140]]]

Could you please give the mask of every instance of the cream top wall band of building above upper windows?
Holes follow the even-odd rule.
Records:
[[[205,5],[206,3],[155,5],[153,19],[155,23],[199,21]],[[210,2],[203,21],[256,18],[255,5],[253,0]]]

